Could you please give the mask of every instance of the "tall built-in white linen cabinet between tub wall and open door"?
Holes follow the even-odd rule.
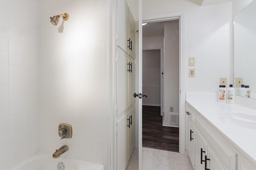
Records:
[[[135,148],[136,24],[126,0],[116,0],[116,164],[125,170]]]

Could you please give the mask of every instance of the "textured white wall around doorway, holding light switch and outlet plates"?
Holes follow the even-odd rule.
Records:
[[[143,0],[143,16],[184,12],[185,92],[216,93],[220,77],[232,76],[232,4],[198,6],[188,0]],[[188,78],[188,57],[196,77]]]

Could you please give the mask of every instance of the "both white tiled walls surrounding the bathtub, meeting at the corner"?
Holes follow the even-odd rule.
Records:
[[[61,157],[108,170],[109,1],[0,2],[0,169],[65,144]],[[59,123],[72,125],[72,139],[60,140]]]

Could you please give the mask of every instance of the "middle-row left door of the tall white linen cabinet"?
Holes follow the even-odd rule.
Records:
[[[118,48],[117,48],[118,49]],[[128,108],[128,58],[120,49],[117,51],[117,116]]]

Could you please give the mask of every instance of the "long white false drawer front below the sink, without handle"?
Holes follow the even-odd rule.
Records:
[[[220,161],[225,170],[236,170],[237,154],[218,136],[209,124],[199,116],[195,117],[195,127],[200,131],[212,152]]]

